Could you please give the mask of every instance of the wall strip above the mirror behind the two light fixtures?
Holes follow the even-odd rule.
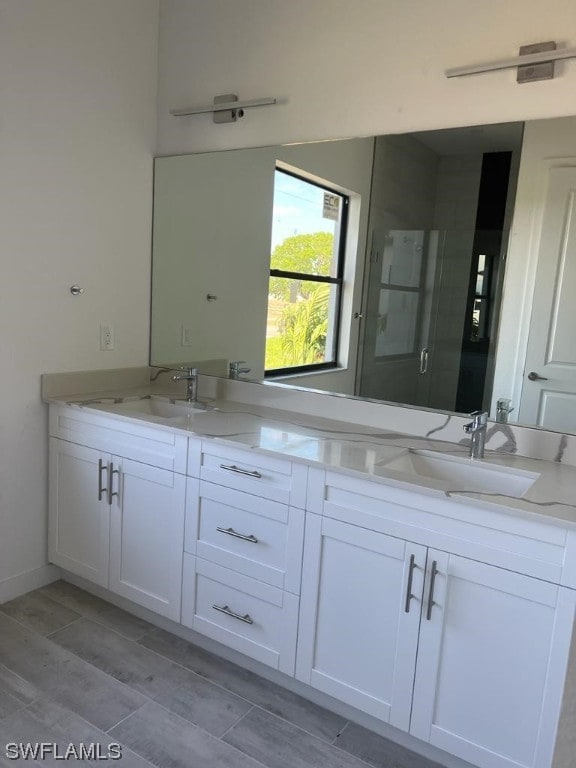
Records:
[[[574,60],[528,85],[444,76],[542,40],[576,45],[573,0],[162,0],[159,152],[574,114]],[[169,114],[222,93],[283,103],[227,125]]]

